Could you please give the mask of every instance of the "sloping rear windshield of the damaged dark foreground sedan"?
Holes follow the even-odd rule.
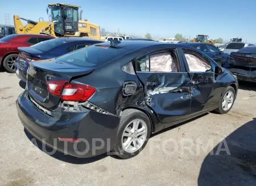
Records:
[[[96,45],[67,53],[57,57],[57,59],[83,67],[92,67],[94,65],[108,63],[108,61],[125,55],[128,52],[129,50],[125,48],[111,48],[108,46]]]

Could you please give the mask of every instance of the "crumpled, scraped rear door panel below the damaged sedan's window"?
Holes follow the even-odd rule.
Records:
[[[162,123],[190,114],[188,73],[138,73],[144,85],[146,104]]]

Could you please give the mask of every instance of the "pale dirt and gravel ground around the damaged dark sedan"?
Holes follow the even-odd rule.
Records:
[[[16,114],[24,85],[15,74],[0,72],[0,79],[0,185],[256,185],[255,84],[240,85],[228,114],[209,113],[164,130],[141,154],[121,160],[40,150]]]

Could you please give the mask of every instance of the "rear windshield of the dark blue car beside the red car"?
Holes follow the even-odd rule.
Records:
[[[59,47],[65,43],[67,43],[67,42],[65,42],[65,39],[56,38],[56,39],[46,40],[46,41],[40,42],[38,44],[34,44],[31,47],[33,47],[41,52],[46,52],[46,51],[50,51],[51,49],[53,49],[55,47]]]

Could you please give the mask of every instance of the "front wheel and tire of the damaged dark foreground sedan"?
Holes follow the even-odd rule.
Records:
[[[232,86],[229,86],[225,93],[222,95],[220,102],[218,104],[218,108],[216,111],[218,114],[226,114],[232,109],[234,105],[234,100],[236,98],[236,91]]]

